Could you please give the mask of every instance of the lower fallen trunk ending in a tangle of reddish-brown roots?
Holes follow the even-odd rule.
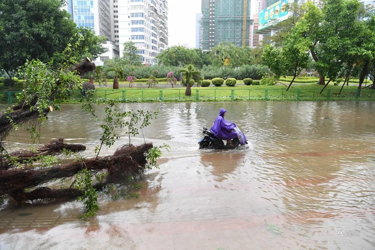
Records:
[[[36,191],[38,190],[36,189],[26,193],[25,189],[37,187],[55,179],[73,177],[82,169],[93,170],[94,172],[107,170],[108,177],[106,182],[116,183],[126,179],[129,175],[134,176],[142,174],[147,163],[145,154],[152,147],[152,144],[142,144],[139,146],[129,145],[118,148],[113,156],[84,159],[82,161],[78,160],[69,164],[46,169],[17,168],[1,171],[0,195],[9,195],[21,204],[30,200],[30,198],[51,198],[54,193],[52,192],[53,190],[42,192],[40,189],[39,191]],[[74,189],[65,191],[66,196],[71,197],[73,194],[78,194],[77,196],[80,196],[80,192],[73,192]],[[64,192],[57,192],[57,194],[59,195],[55,197],[56,199],[63,198],[60,196],[63,196],[62,194],[64,194]]]

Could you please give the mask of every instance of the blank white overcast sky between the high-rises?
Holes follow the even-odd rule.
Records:
[[[195,15],[201,0],[168,0],[168,46],[188,43],[195,47]]]

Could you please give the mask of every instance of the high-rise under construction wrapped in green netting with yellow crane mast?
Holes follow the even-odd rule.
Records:
[[[202,0],[200,48],[208,51],[220,42],[249,46],[252,21],[250,0]]]

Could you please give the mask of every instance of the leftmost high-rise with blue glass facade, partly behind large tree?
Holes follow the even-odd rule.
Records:
[[[65,5],[65,9],[71,14],[77,26],[92,28],[96,35],[107,38],[107,41],[103,43],[106,52],[93,60],[97,65],[119,56],[118,46],[115,46],[112,39],[114,33],[114,21],[111,15],[112,1],[67,0]]]

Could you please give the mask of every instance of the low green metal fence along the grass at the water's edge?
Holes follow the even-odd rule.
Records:
[[[94,97],[100,101],[118,102],[163,102],[163,101],[235,101],[235,100],[375,100],[375,90],[325,90],[319,94],[317,89],[234,89],[207,88],[192,89],[191,96],[185,96],[184,89],[144,89],[144,90],[95,90]],[[0,92],[1,103],[15,103],[16,93]],[[71,93],[70,100],[79,100],[80,90]]]

